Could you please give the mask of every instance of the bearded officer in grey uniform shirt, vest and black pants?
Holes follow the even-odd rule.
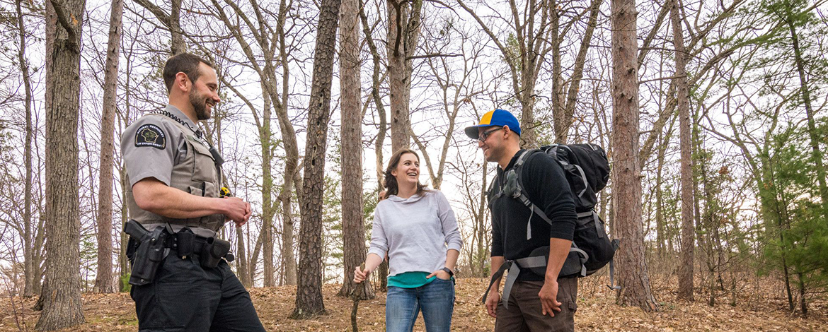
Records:
[[[130,234],[138,328],[263,331],[249,293],[224,261],[232,260],[229,243],[216,235],[225,221],[244,225],[250,204],[221,197],[223,160],[195,125],[221,101],[215,69],[183,53],[167,60],[163,76],[169,104],[128,126],[121,140],[130,219],[152,232]]]

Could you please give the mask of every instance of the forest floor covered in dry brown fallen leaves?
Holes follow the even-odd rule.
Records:
[[[755,282],[739,288],[736,306],[730,295],[707,306],[706,294],[696,292],[696,302],[676,300],[675,282],[652,282],[659,311],[646,313],[637,307],[618,306],[615,294],[605,287],[604,277],[581,279],[575,329],[580,331],[828,331],[828,301],[812,300],[809,316],[789,314],[787,301],[777,282]],[[768,283],[768,284],[766,284]],[[456,286],[452,330],[493,330],[494,319],[486,315],[479,298],[488,281],[460,278]],[[772,291],[773,290],[773,291]],[[352,301],[336,296],[339,285],[325,285],[326,315],[314,320],[291,320],[296,287],[253,288],[250,291],[262,324],[268,331],[349,331]],[[764,295],[763,295],[764,294]],[[732,294],[731,294],[732,295]],[[36,299],[6,296],[0,299],[0,331],[34,330],[39,312],[31,311]],[[384,330],[385,293],[359,302],[359,330]],[[135,331],[135,306],[127,293],[84,294],[86,324],[65,331]],[[415,331],[424,331],[422,316]]]

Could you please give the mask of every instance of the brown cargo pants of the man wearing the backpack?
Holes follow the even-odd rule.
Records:
[[[561,312],[555,316],[543,315],[541,292],[543,282],[515,282],[509,295],[509,308],[498,303],[498,318],[494,321],[494,332],[566,332],[575,330],[575,311],[578,309],[578,278],[558,279],[557,300]]]

